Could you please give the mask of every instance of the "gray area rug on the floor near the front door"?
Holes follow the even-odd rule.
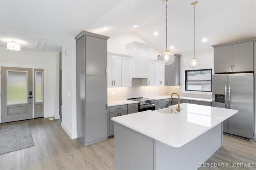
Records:
[[[0,155],[34,146],[28,123],[3,126],[0,131]]]

